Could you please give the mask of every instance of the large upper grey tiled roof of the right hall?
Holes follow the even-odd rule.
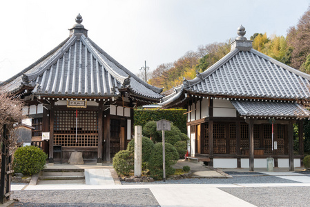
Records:
[[[235,48],[197,78],[184,81],[184,88],[207,95],[307,99],[309,79],[309,75],[257,50]]]

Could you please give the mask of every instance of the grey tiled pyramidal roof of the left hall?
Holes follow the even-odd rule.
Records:
[[[0,86],[10,92],[29,86],[32,93],[46,96],[109,97],[126,90],[142,99],[162,98],[162,88],[142,81],[115,61],[86,37],[84,27],[81,34],[74,29],[80,28],[72,28],[70,38]]]

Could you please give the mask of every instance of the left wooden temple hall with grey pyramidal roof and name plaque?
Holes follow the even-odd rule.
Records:
[[[133,138],[133,108],[162,99],[162,88],[145,83],[99,48],[82,20],[77,15],[67,39],[0,83],[26,102],[24,124],[32,126],[32,144],[41,145],[50,163],[60,154],[66,161],[75,151],[98,164],[112,161]]]

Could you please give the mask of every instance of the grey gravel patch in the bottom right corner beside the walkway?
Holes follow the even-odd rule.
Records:
[[[255,206],[309,206],[310,187],[219,188]]]

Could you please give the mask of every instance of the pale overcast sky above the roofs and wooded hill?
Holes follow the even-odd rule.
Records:
[[[284,35],[310,0],[19,0],[0,3],[0,81],[17,74],[69,35],[81,13],[88,37],[137,74],[182,57],[197,46],[237,37],[242,24]]]

